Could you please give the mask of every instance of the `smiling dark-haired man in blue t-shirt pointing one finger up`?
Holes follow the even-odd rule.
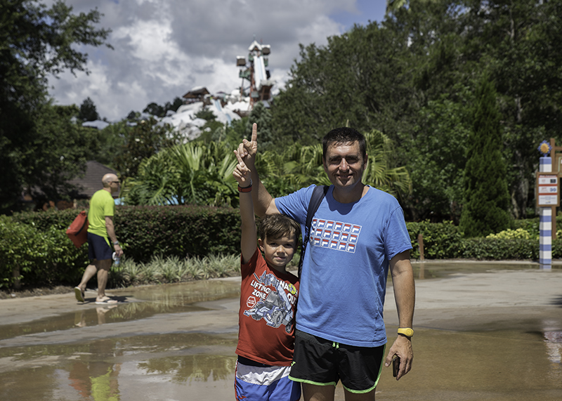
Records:
[[[273,199],[254,165],[257,126],[238,147],[251,170],[258,216],[283,213],[301,223],[313,189]],[[394,358],[396,379],[412,367],[414,275],[410,236],[398,201],[362,183],[367,167],[365,137],[334,129],[322,141],[322,162],[332,183],[316,211],[307,239],[294,360],[290,378],[302,383],[305,401],[334,400],[341,380],[346,400],[374,400],[386,346],[383,305],[390,270],[398,308],[398,338],[384,364]],[[398,358],[400,358],[398,360]]]

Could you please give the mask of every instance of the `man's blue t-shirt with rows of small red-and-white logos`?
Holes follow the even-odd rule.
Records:
[[[302,232],[314,187],[275,199]],[[404,213],[395,197],[376,188],[348,204],[336,202],[333,190],[332,185],[311,225],[296,329],[351,346],[382,346],[388,263],[412,248]]]

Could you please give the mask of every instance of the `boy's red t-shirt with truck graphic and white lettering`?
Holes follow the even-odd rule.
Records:
[[[254,362],[289,366],[299,279],[270,269],[259,249],[240,266],[242,287],[237,355]]]

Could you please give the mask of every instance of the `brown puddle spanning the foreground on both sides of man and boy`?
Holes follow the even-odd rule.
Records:
[[[418,329],[414,370],[377,400],[561,400],[561,333]],[[547,338],[547,337],[550,337]],[[554,339],[554,341],[551,341]],[[1,400],[233,399],[236,334],[0,349]],[[336,400],[343,400],[338,388]]]

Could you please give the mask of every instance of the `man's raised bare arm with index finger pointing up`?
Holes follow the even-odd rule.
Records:
[[[242,140],[238,145],[238,154],[244,159],[244,164],[251,171],[251,180],[254,190],[251,191],[251,200],[254,202],[254,212],[258,216],[267,216],[269,214],[279,214],[275,199],[269,195],[266,187],[259,180],[258,171],[256,170],[256,154],[258,152],[258,124],[254,123],[251,127],[251,140]]]

